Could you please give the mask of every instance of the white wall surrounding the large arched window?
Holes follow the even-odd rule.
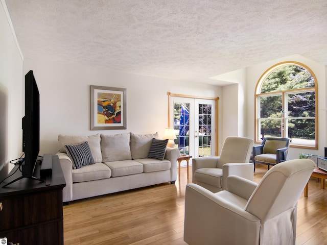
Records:
[[[247,68],[247,135],[254,138],[254,93],[255,86],[261,75],[271,66],[284,61],[297,61],[307,65],[314,72],[318,82],[318,150],[308,150],[299,148],[290,148],[287,159],[298,158],[299,153],[311,153],[324,156],[324,147],[326,144],[326,68],[312,60],[299,55],[285,57],[283,59],[272,60],[259,65]]]

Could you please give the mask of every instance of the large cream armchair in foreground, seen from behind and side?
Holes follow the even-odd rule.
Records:
[[[297,201],[315,163],[273,166],[259,184],[229,176],[227,190],[186,185],[184,241],[198,244],[295,244]]]

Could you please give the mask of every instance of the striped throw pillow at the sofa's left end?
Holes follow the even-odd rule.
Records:
[[[68,156],[72,159],[73,168],[81,168],[88,164],[94,164],[90,146],[87,141],[81,144],[65,145]]]

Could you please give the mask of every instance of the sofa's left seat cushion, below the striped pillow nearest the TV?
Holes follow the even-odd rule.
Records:
[[[73,169],[73,182],[108,179],[111,176],[110,168],[101,162]]]

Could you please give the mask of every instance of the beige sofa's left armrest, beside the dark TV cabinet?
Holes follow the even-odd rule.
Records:
[[[59,162],[62,168],[62,173],[66,181],[66,186],[62,190],[62,201],[73,201],[73,163],[71,158],[66,153],[58,152]]]

